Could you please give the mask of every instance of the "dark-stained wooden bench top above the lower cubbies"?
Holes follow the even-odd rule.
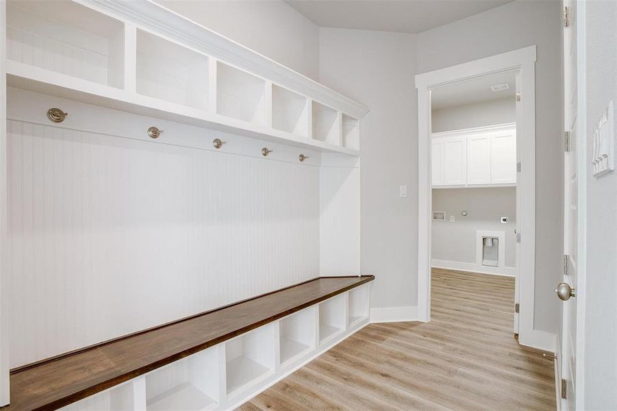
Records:
[[[11,371],[2,411],[53,410],[375,279],[319,277]]]

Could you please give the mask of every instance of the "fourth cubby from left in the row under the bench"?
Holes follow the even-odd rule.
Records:
[[[311,351],[316,346],[315,307],[281,319],[281,364],[286,364]]]

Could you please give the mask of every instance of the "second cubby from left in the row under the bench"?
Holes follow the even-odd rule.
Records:
[[[146,375],[147,411],[197,411],[216,407],[220,347],[210,347]]]

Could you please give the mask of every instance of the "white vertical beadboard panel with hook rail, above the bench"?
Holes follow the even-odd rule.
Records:
[[[151,142],[162,122],[75,102],[59,127],[42,107],[70,101],[11,93],[12,367],[320,274],[319,166]]]

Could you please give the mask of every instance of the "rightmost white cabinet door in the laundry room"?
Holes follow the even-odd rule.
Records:
[[[490,137],[490,184],[516,184],[516,129]]]

